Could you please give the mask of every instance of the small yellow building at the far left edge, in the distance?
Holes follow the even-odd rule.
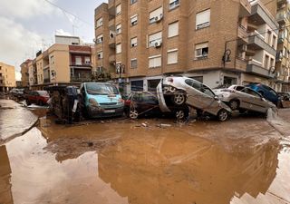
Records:
[[[14,66],[0,62],[0,92],[8,92],[15,86]]]

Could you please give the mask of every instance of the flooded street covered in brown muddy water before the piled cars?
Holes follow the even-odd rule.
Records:
[[[71,126],[34,112],[39,125],[0,146],[1,204],[290,204],[289,109]]]

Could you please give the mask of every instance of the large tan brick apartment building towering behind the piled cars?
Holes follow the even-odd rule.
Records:
[[[212,88],[274,86],[277,3],[264,2],[109,0],[95,9],[97,67],[127,92],[180,73]]]

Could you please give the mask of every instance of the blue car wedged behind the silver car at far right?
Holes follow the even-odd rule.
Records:
[[[266,100],[273,102],[275,106],[281,105],[281,99],[279,95],[269,86],[266,86],[263,83],[249,83],[246,87],[251,88],[252,90],[260,93]]]

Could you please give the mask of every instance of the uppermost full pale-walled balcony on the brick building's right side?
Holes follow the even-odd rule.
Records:
[[[269,13],[264,5],[256,3],[252,5],[251,15],[248,17],[248,24],[261,25],[268,24],[278,34],[279,24],[276,23],[274,17]]]

